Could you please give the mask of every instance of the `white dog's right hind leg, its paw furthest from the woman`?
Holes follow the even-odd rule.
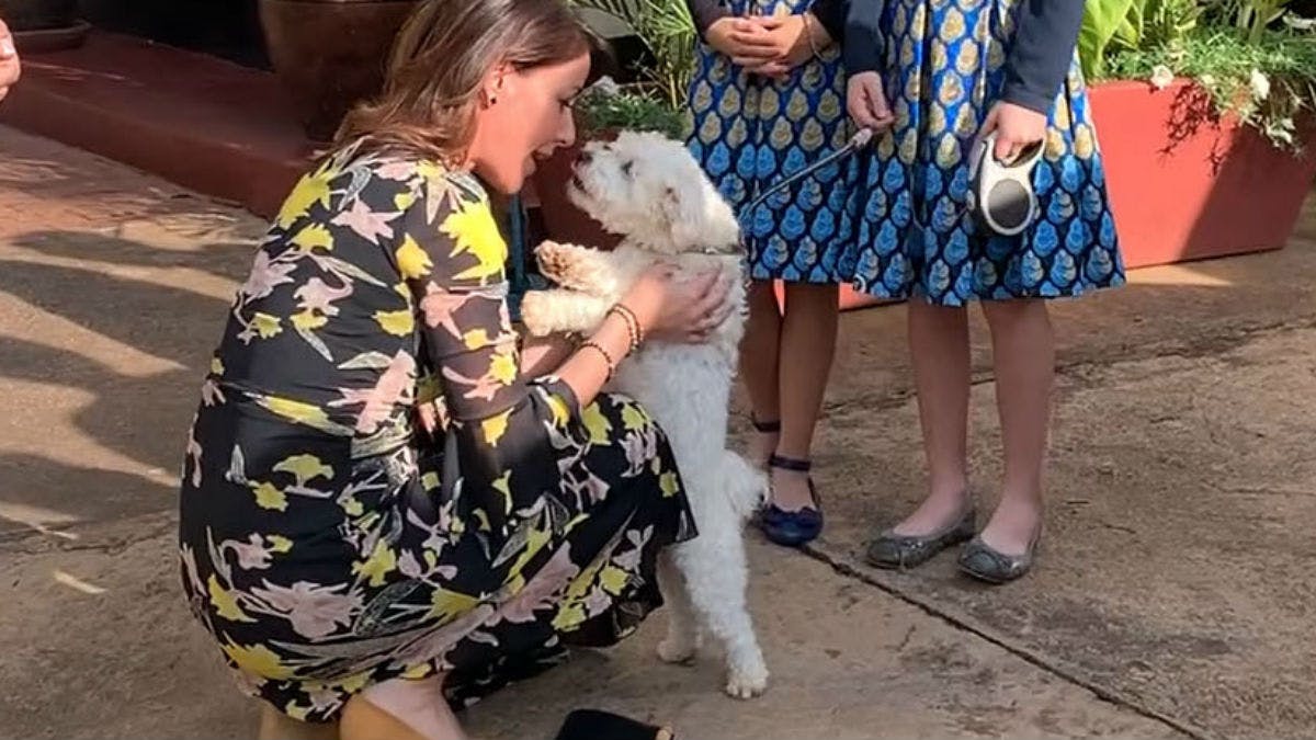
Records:
[[[726,648],[726,693],[737,699],[762,694],[767,689],[767,665],[745,600],[749,574],[740,528],[701,532],[676,548],[690,600]]]

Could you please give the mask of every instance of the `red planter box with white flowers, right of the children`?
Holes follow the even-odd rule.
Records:
[[[1128,267],[1280,249],[1316,178],[1316,126],[1294,157],[1215,116],[1188,80],[1092,86],[1105,182]]]

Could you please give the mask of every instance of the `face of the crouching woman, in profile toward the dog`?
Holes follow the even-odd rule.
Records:
[[[490,187],[519,192],[536,159],[575,141],[571,103],[590,75],[590,55],[528,70],[496,70],[475,113],[468,161]]]

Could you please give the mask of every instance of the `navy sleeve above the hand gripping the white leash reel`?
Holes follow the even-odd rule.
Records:
[[[1046,115],[1074,61],[1083,0],[1025,0],[1005,62],[1001,100]]]

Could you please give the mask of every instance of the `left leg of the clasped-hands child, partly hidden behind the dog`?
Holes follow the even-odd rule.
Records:
[[[741,340],[741,378],[749,391],[750,410],[761,423],[780,420],[778,388],[778,353],[782,313],[772,294],[771,280],[754,280],[749,288],[749,320]],[[762,465],[776,449],[776,432],[757,432],[749,457]]]

